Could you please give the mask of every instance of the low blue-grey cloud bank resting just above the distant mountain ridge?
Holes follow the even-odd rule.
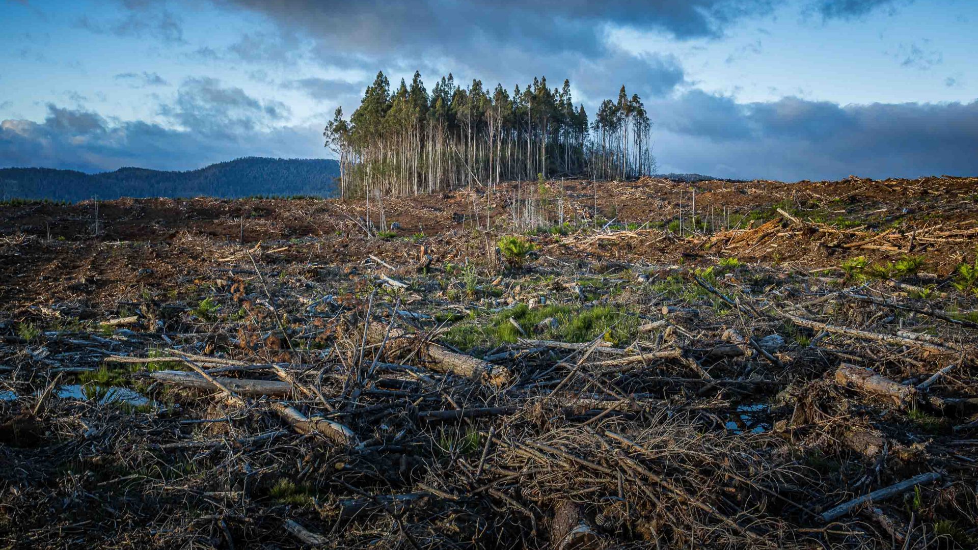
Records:
[[[202,134],[144,121],[112,122],[97,113],[49,105],[43,122],[0,122],[0,167],[185,170],[245,154],[314,158],[322,156],[321,133],[320,125],[299,125]]]

